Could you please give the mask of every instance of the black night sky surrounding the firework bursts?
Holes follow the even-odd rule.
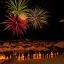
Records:
[[[5,19],[5,2],[0,0],[0,22]],[[63,0],[29,0],[29,8],[40,7],[47,10],[50,14],[48,25],[44,26],[42,30],[27,30],[27,33],[21,38],[29,39],[64,39],[64,23],[59,21],[64,18],[64,2]],[[10,31],[3,32],[3,25],[0,25],[0,40],[20,39],[20,37],[13,36]]]

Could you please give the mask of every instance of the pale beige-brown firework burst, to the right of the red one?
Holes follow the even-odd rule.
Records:
[[[47,13],[47,11],[36,8],[29,10],[28,21],[34,29],[40,29],[42,28],[43,24],[47,23]]]

